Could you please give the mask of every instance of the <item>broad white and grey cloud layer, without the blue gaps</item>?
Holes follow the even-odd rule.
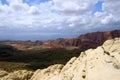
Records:
[[[72,34],[112,28],[110,25],[116,27],[120,23],[119,0],[104,0],[103,11],[95,13],[91,12],[98,0],[51,0],[36,5],[28,5],[22,0],[7,1],[9,5],[0,2],[0,31],[3,32],[21,30]]]

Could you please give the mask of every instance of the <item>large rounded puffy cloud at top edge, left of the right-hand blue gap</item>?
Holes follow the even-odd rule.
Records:
[[[89,11],[96,3],[97,0],[53,0],[54,8],[65,14],[79,15]]]

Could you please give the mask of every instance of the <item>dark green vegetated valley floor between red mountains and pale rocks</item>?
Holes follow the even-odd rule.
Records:
[[[52,64],[65,64],[70,58],[79,56],[82,49],[31,49],[17,50],[9,45],[0,45],[0,68],[6,71],[36,70]]]

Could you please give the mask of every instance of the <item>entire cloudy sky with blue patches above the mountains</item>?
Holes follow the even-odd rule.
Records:
[[[120,0],[0,0],[0,40],[48,40],[120,29]]]

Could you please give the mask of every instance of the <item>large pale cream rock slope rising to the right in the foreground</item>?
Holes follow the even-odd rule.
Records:
[[[37,70],[30,80],[120,80],[120,38],[82,52],[64,67]]]

